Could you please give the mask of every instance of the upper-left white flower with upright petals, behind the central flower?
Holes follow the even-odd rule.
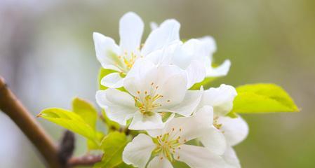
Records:
[[[123,77],[131,69],[139,57],[145,57],[149,52],[163,48],[168,43],[179,39],[180,24],[176,20],[166,20],[159,29],[149,34],[147,40],[141,45],[144,24],[135,13],[123,15],[119,21],[120,43],[116,45],[112,38],[99,33],[93,33],[95,51],[98,60],[105,69],[114,69],[102,79],[102,85],[107,87],[121,87]]]

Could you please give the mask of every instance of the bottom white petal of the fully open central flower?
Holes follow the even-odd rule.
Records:
[[[133,117],[133,121],[129,126],[129,130],[152,130],[161,129],[164,127],[162,117],[158,113],[152,114],[152,116],[143,115],[138,112]]]

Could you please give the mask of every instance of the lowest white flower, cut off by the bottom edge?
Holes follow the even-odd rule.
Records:
[[[139,134],[135,137],[123,151],[123,162],[140,168],[146,165],[148,168],[170,168],[173,167],[171,162],[178,160],[192,168],[222,168],[224,160],[220,155],[225,151],[225,141],[212,121],[213,109],[210,106],[204,106],[190,117],[173,118],[163,129],[149,130],[149,136]],[[203,146],[211,146],[213,151],[185,144],[204,134],[213,141]],[[151,155],[153,159],[149,162]]]

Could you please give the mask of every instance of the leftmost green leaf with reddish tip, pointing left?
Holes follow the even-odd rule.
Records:
[[[44,109],[39,113],[38,117],[49,120],[77,134],[81,134],[83,137],[91,139],[91,141],[95,141],[94,128],[86,123],[81,116],[72,111],[58,108]]]

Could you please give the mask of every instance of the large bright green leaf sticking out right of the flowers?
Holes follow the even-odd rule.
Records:
[[[231,113],[268,113],[300,111],[290,95],[274,84],[252,84],[236,87]]]

